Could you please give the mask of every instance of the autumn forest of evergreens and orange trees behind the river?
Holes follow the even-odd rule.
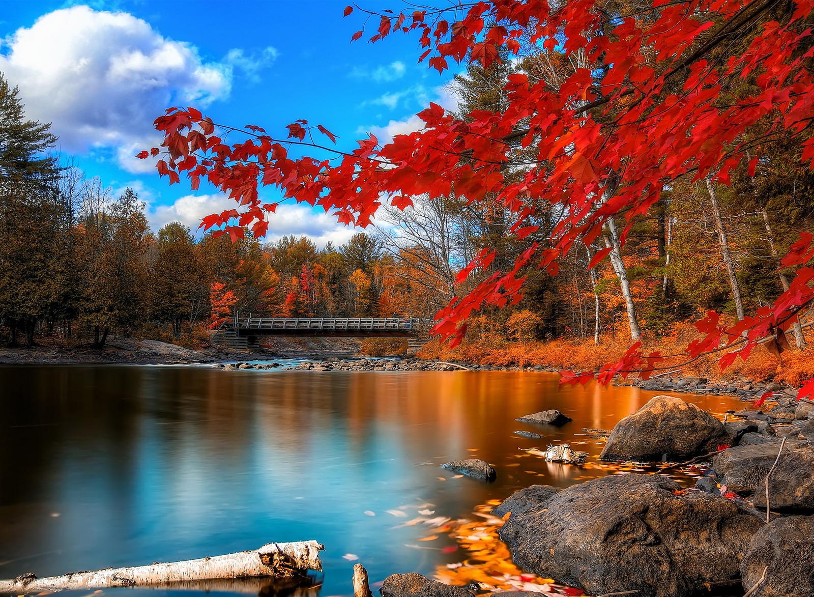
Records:
[[[450,85],[457,116],[505,110],[502,86],[516,72],[556,77],[560,68],[539,59],[473,62]],[[113,196],[72,158],[49,153],[56,140],[49,125],[25,119],[24,99],[5,79],[0,119],[0,326],[9,345],[101,348],[110,335],[202,345],[234,311],[432,318],[510,269],[532,244],[545,244],[562,220],[549,204],[534,232],[517,235],[495,193],[478,202],[449,193],[384,205],[374,226],[339,247],[294,236],[263,242],[247,227],[234,239],[178,222],[151,230],[133,190]],[[618,358],[631,341],[685,343],[707,311],[742,320],[788,290],[781,257],[799,230],[814,227],[814,176],[800,153],[799,143],[775,144],[756,165],[734,169],[728,184],[711,177],[672,184],[632,217],[624,244],[608,218],[592,243],[571,246],[558,271],[523,267],[522,298],[483,309],[460,347],[436,341],[425,353],[584,369]],[[511,163],[502,168],[507,181],[523,175]],[[487,248],[495,257],[467,278],[466,264]],[[597,263],[598,254],[609,258]],[[807,347],[800,319],[786,343],[795,350]],[[764,349],[755,355],[747,374],[772,375],[777,359]],[[809,360],[799,359],[795,371]]]

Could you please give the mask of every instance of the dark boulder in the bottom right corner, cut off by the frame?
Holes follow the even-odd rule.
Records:
[[[788,516],[772,520],[752,538],[741,563],[743,586],[751,589],[766,577],[754,597],[814,595],[814,517]],[[768,568],[767,568],[768,566]]]

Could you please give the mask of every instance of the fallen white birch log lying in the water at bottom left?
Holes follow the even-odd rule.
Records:
[[[322,570],[322,562],[319,560],[319,551],[322,549],[325,547],[316,541],[269,543],[252,551],[207,556],[184,562],[106,568],[47,578],[37,578],[29,573],[11,581],[0,581],[0,593],[101,589],[107,586],[155,585],[214,578],[304,576],[308,570]]]

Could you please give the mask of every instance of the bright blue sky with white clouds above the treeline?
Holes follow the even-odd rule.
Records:
[[[298,118],[322,124],[352,147],[418,128],[431,101],[453,107],[441,76],[417,64],[417,35],[383,42],[365,15],[343,18],[348,2],[0,2],[0,72],[20,86],[26,116],[51,122],[63,155],[118,193],[133,187],[154,230],[229,205],[202,184],[168,187],[133,156],[156,145],[152,121],[171,105],[192,105],[216,122],[260,125],[282,136]],[[371,0],[362,6],[399,10]],[[309,235],[344,242],[355,230],[307,205],[283,205],[267,239]]]

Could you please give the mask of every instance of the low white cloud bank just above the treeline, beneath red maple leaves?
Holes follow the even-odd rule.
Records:
[[[154,231],[169,222],[181,222],[190,226],[195,234],[202,217],[235,207],[237,204],[234,200],[225,195],[186,195],[172,205],[148,205],[147,219]],[[336,217],[311,209],[309,205],[282,204],[276,213],[269,214],[269,231],[265,241],[274,242],[286,235],[305,235],[318,247],[323,247],[329,240],[335,245],[344,244],[359,230],[339,224]]]

